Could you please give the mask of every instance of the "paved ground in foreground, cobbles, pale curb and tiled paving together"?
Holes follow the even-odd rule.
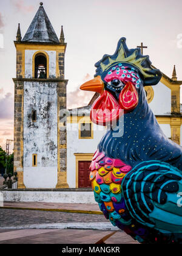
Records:
[[[15,207],[15,204],[12,204],[12,207]],[[50,205],[51,207],[52,205]],[[90,207],[93,206],[90,205]],[[76,205],[74,205],[74,208],[76,208]],[[80,205],[78,208],[80,208]],[[89,205],[87,205],[87,208],[89,208]],[[68,222],[70,228],[65,229]],[[88,227],[88,223],[89,229],[85,229],[85,227]],[[0,226],[1,244],[95,244],[104,236],[113,232],[111,224],[103,215],[10,208],[1,208]],[[29,229],[26,229],[27,226],[29,226]],[[108,230],[102,230],[105,228]],[[121,230],[110,236],[104,243],[137,244]]]

